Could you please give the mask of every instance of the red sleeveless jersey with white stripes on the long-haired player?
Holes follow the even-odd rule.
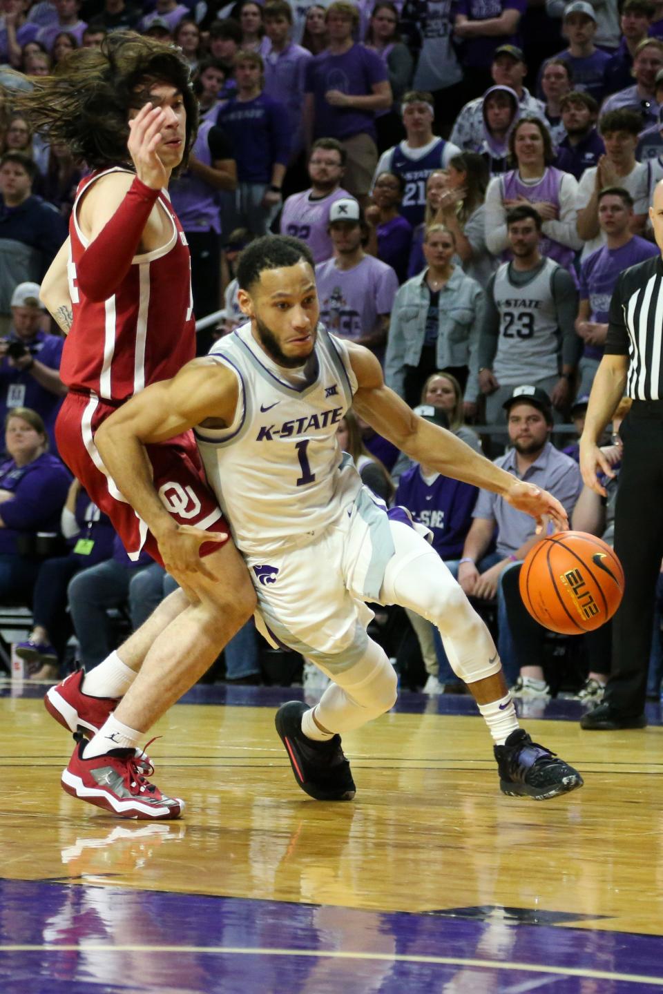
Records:
[[[196,355],[191,257],[165,191],[157,203],[172,224],[163,248],[134,255],[128,273],[107,300],[87,300],[77,284],[77,264],[88,242],[78,223],[83,192],[100,176],[128,172],[114,167],[85,177],[70,220],[69,284],[74,323],[63,350],[60,375],[70,388],[107,401],[125,401],[148,384],[169,380]]]

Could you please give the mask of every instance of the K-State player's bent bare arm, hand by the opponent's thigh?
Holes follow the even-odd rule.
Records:
[[[178,525],[171,518],[154,489],[145,446],[167,441],[202,422],[217,427],[230,424],[237,403],[234,374],[214,360],[194,359],[172,380],[146,387],[127,401],[94,435],[106,470],[157,540],[166,570],[185,586],[192,574],[216,579],[199,549],[204,542],[225,536]]]

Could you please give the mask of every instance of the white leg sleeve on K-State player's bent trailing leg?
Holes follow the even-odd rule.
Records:
[[[334,683],[315,709],[317,722],[329,732],[351,732],[396,704],[396,670],[376,642],[369,641],[362,658],[350,669],[329,675]]]

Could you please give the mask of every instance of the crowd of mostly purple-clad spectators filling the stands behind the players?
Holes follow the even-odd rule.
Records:
[[[648,208],[663,177],[660,14],[653,0],[0,0],[0,599],[33,607],[25,658],[55,677],[70,617],[93,666],[112,638],[107,607],[128,604],[139,623],[169,580],[129,564],[84,493],[67,492],[53,436],[63,340],[39,284],[86,166],[31,133],[13,91],[114,31],[179,46],[201,123],[170,195],[196,316],[218,316],[199,352],[243,320],[239,251],[293,235],[315,258],[330,331],[374,350],[422,416],[548,486],[574,521],[578,502],[602,534],[610,500],[582,495],[578,447],[559,425],[586,403],[618,273],[659,251]],[[398,487],[465,591],[497,603],[516,692],[546,696],[526,658],[542,632],[514,594],[533,523],[413,466],[352,413],[342,431],[367,484],[388,501]],[[49,473],[62,482],[48,483],[45,520],[21,517],[33,498],[19,496]],[[22,541],[38,530],[60,547]],[[453,683],[443,646],[414,625],[427,692],[441,692]],[[258,679],[254,635],[242,638],[229,672]],[[598,699],[605,674],[592,664],[588,679],[584,699]]]

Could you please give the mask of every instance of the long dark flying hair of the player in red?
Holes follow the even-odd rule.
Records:
[[[140,108],[153,83],[175,86],[187,111],[186,166],[198,128],[198,103],[184,57],[172,46],[116,31],[100,49],[77,49],[59,63],[53,76],[30,77],[31,90],[9,94],[16,111],[45,140],[67,145],[91,169],[131,165],[126,142],[129,109]]]

